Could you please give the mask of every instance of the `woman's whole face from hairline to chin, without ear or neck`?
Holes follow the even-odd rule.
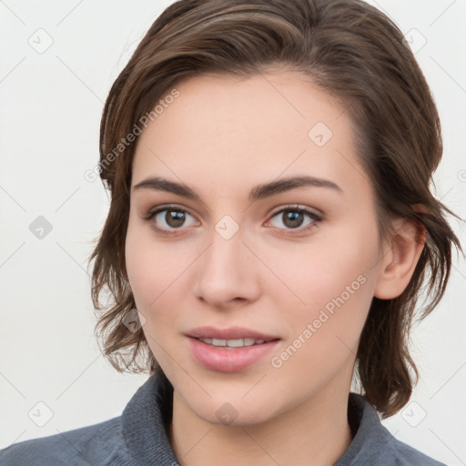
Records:
[[[344,107],[292,72],[176,87],[132,169],[127,276],[150,349],[208,422],[347,393],[380,245]]]

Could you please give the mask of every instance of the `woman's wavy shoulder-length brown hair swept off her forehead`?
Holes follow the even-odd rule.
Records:
[[[111,205],[89,258],[95,259],[92,299],[101,311],[96,334],[117,370],[161,370],[142,329],[122,324],[136,308],[125,266],[136,144],[118,148],[121,155],[115,147],[181,79],[253,76],[274,67],[304,73],[347,109],[375,189],[380,238],[395,217],[427,232],[408,287],[396,299],[374,297],[361,334],[356,373],[366,398],[386,418],[410,400],[410,370],[414,383],[419,379],[408,337],[423,281],[422,318],[443,296],[452,245],[462,248],[444,217],[458,216],[430,191],[442,153],[430,89],[399,28],[360,0],[180,0],[157,18],[112,86],[101,121],[99,171]],[[105,290],[110,300],[102,305]]]

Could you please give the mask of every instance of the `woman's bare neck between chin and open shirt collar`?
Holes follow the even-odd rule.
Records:
[[[328,466],[352,440],[344,389],[322,390],[284,414],[246,426],[202,420],[174,391],[168,437],[181,466]]]

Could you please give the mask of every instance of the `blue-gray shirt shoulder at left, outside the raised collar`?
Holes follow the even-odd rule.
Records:
[[[2,466],[81,466],[117,463],[124,456],[121,416],[73,431],[14,443],[0,450]]]

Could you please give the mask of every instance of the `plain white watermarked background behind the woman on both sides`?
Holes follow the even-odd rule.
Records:
[[[96,344],[86,259],[108,198],[84,173],[98,161],[111,84],[170,3],[0,1],[0,448],[115,417],[147,380],[117,373]],[[443,127],[436,197],[466,218],[466,1],[370,3],[417,50]],[[53,44],[39,54],[30,45],[39,40]],[[43,239],[29,230],[38,216],[53,227]],[[466,246],[464,227],[451,225]],[[420,370],[413,404],[383,421],[449,465],[466,464],[465,286],[455,254],[445,298],[412,332]],[[39,401],[53,413],[44,427],[28,417]]]

